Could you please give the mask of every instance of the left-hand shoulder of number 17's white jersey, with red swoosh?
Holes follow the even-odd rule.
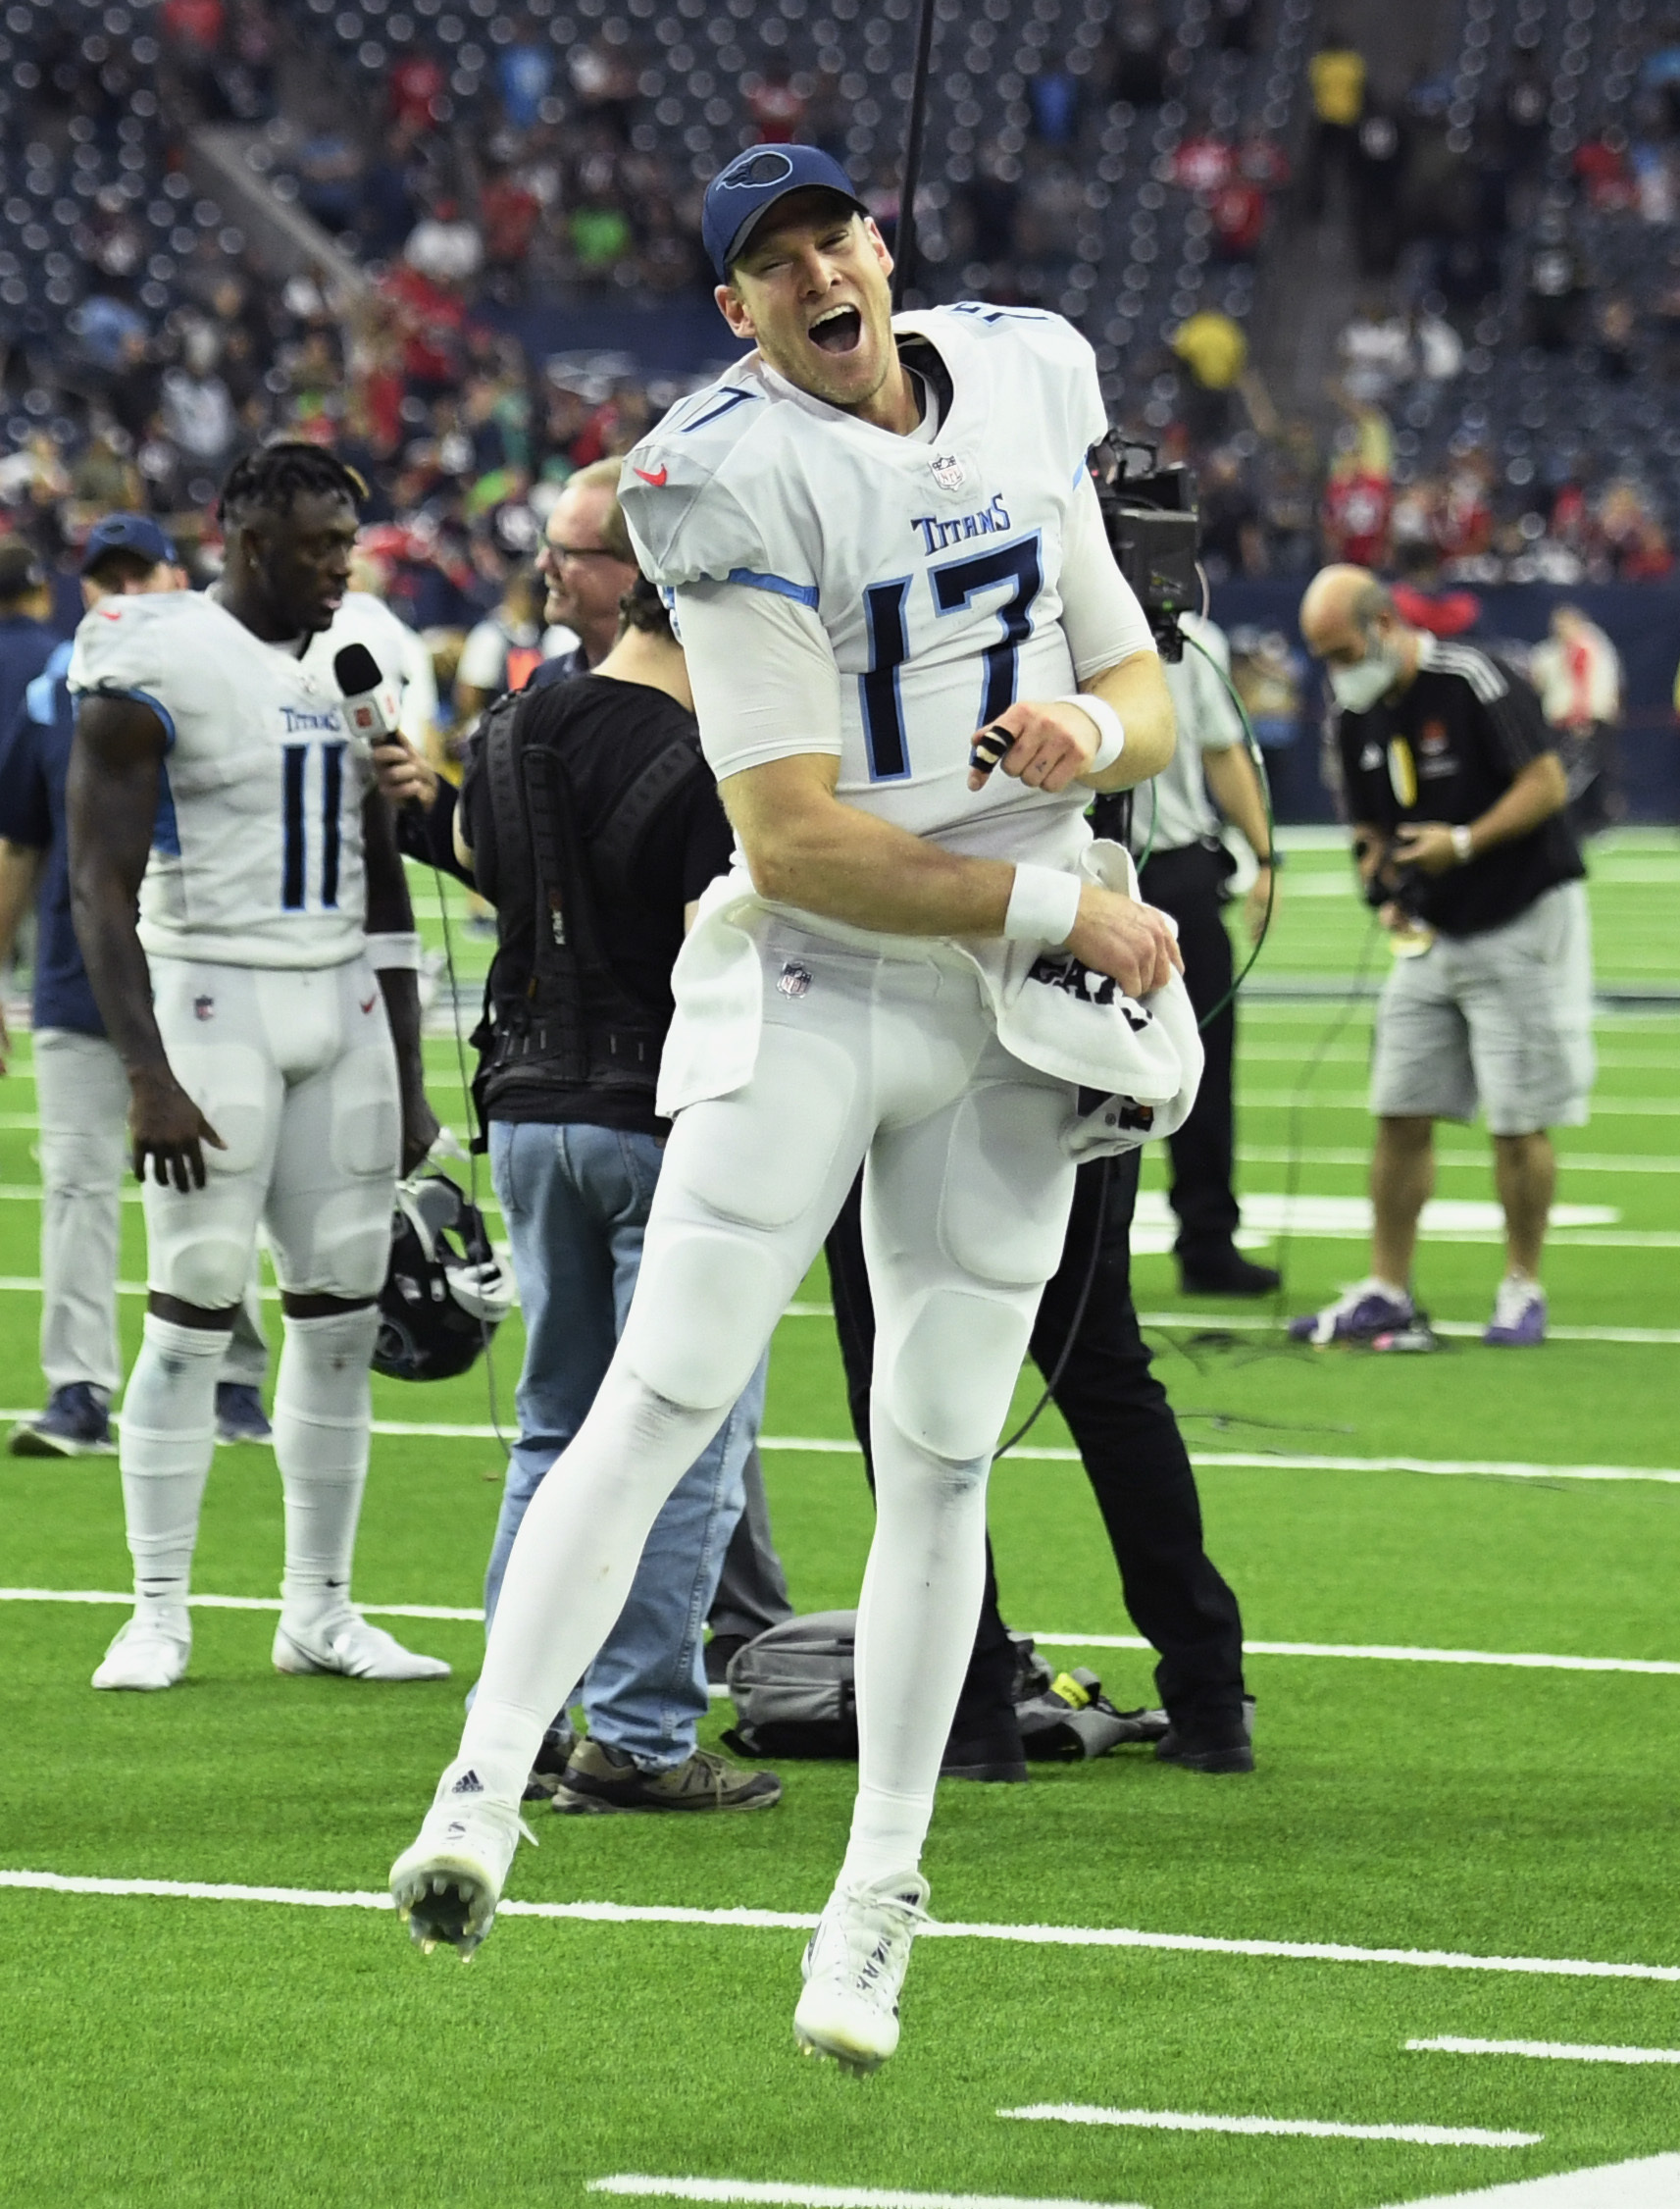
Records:
[[[625,457],[618,501],[651,581],[786,585],[815,603],[815,550],[799,517],[806,468],[790,429],[810,426],[753,364],[680,400]]]

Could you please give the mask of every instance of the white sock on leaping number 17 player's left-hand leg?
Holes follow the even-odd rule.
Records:
[[[554,1712],[625,1608],[649,1526],[726,1416],[687,1412],[614,1365],[532,1495],[459,1754],[503,1803],[523,1794]]]

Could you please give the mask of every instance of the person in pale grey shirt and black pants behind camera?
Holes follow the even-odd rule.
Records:
[[[1201,614],[1181,614],[1179,627],[1188,641],[1183,658],[1166,660],[1161,669],[1179,720],[1179,749],[1130,808],[1130,848],[1141,864],[1137,881],[1144,899],[1179,923],[1183,983],[1203,1023],[1201,1043],[1208,1054],[1194,1111],[1168,1138],[1172,1211],[1179,1215],[1179,1281],[1185,1294],[1269,1297],[1278,1275],[1272,1266],[1243,1257],[1234,1241],[1241,1224],[1232,1193],[1236,1003],[1225,886],[1236,864],[1219,842],[1219,817],[1236,824],[1258,862],[1243,915],[1250,941],[1265,928],[1276,895],[1272,868],[1278,855],[1272,850],[1265,791],[1247,753],[1243,722],[1219,676],[1232,658],[1225,632]],[[1108,806],[1113,800],[1097,800],[1097,835],[1115,833],[1104,820]],[[1223,1010],[1208,1018],[1221,998]]]

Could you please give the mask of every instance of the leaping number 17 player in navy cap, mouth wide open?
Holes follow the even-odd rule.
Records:
[[[1137,1140],[1124,1098],[1166,1133],[1194,1096],[1170,928],[1104,886],[1130,870],[1084,822],[1093,789],[1166,764],[1172,707],[1086,468],[1086,342],[989,307],[901,316],[894,340],[887,250],[810,148],[731,163],[706,236],[757,351],[629,455],[623,504],[673,590],[737,868],[676,970],[680,1118],[618,1356],[525,1518],[461,1754],[391,1886],[426,1946],[488,1931],[547,1712],[868,1160],[859,1798],[795,2012],[808,2052],[868,2070],[899,2039],[985,1482],[1073,1158]],[[1009,740],[989,780],[987,725]],[[1055,945],[1075,956],[1042,965]],[[1082,1085],[1106,1107],[1082,1116]]]

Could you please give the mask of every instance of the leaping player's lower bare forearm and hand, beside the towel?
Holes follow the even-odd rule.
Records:
[[[1000,937],[1016,886],[1007,859],[967,859],[834,795],[828,753],[773,760],[717,789],[759,897],[903,937]],[[1166,919],[1097,884],[1066,939],[1086,965],[1148,996],[1183,965]]]

